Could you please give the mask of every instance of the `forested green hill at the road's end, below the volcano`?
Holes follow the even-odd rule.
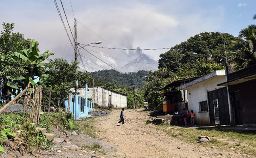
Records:
[[[115,84],[118,87],[141,87],[145,85],[145,76],[148,71],[138,71],[131,73],[120,73],[116,70],[101,70],[91,72],[91,76],[95,79],[101,80],[103,83]]]

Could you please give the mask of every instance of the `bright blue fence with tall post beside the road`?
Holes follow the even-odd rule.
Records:
[[[70,95],[70,112],[73,113],[75,120],[88,117],[88,111],[93,111],[93,101],[88,100],[87,85],[85,87],[85,99],[78,95]],[[64,107],[67,110],[68,100],[64,102]]]

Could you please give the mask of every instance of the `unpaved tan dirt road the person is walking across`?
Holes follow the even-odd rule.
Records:
[[[96,118],[99,138],[117,146],[110,157],[122,158],[243,158],[249,155],[202,147],[169,137],[157,125],[146,124],[148,113],[142,110],[125,110],[124,126],[117,126],[120,110]],[[109,156],[109,155],[108,155]]]

